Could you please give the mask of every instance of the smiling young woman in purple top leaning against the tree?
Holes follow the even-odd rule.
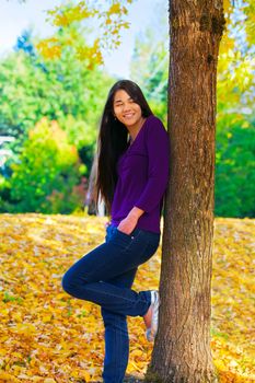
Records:
[[[131,286],[138,266],[159,247],[170,160],[167,132],[132,81],[118,81],[108,93],[97,159],[95,200],[103,198],[111,222],[105,242],[65,274],[62,288],[101,305],[102,376],[105,383],[120,383],[129,355],[127,315],[143,317],[148,340],[154,339],[158,329],[159,292],[136,292]]]

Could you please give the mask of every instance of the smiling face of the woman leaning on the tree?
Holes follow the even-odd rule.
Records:
[[[118,90],[114,95],[114,115],[127,128],[139,126],[143,119],[141,107],[124,90]]]

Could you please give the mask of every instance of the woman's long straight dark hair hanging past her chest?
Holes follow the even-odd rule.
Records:
[[[111,213],[114,190],[117,183],[117,161],[128,147],[128,129],[114,117],[114,95],[118,90],[124,90],[129,94],[134,102],[140,106],[143,117],[152,115],[141,89],[135,82],[120,80],[109,90],[97,138],[97,169],[94,189],[96,209],[101,195],[105,202],[106,214]]]

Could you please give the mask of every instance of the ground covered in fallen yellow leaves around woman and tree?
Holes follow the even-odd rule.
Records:
[[[105,218],[0,214],[0,382],[102,382],[100,307],[61,289],[65,271],[104,241]],[[215,221],[211,348],[221,382],[255,382],[255,220]],[[134,289],[159,286],[161,247]],[[127,381],[151,358],[141,317],[128,317]]]

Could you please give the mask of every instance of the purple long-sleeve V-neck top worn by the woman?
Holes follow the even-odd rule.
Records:
[[[117,184],[111,217],[118,225],[134,207],[144,210],[136,228],[161,233],[160,218],[169,182],[170,141],[154,115],[143,123],[131,146],[117,162]]]

